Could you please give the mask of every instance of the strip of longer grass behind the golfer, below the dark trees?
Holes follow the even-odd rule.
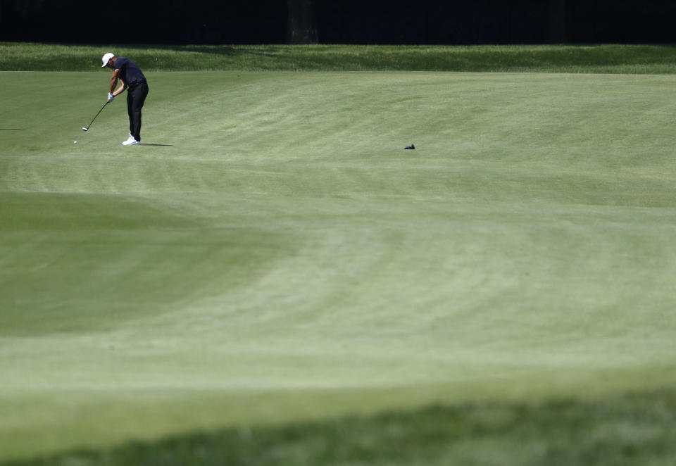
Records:
[[[130,46],[0,42],[0,70],[87,71],[106,51],[134,58],[144,70],[195,71],[472,71],[676,73],[671,45],[587,46]]]

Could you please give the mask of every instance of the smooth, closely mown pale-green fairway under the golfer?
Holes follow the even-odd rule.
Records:
[[[673,407],[672,76],[147,75],[123,147],[124,99],[80,130],[109,73],[0,73],[0,462],[428,403]],[[609,439],[662,432],[632,419]],[[521,434],[461,458],[540,464]]]

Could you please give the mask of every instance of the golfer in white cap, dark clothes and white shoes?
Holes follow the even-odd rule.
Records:
[[[113,53],[106,53],[101,60],[104,65],[101,68],[111,68],[111,88],[108,90],[108,102],[112,102],[127,90],[127,113],[129,113],[129,139],[122,143],[123,146],[138,146],[141,144],[141,109],[148,95],[148,82],[141,68],[129,58],[117,57]],[[115,89],[120,81],[120,87]]]

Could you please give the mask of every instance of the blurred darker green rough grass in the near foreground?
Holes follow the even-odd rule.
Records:
[[[469,403],[239,427],[18,465],[668,465],[676,398]]]

